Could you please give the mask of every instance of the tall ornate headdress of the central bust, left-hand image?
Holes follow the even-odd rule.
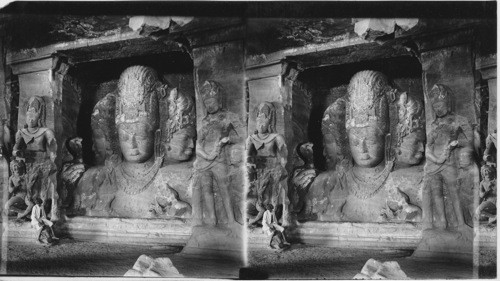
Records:
[[[125,69],[118,82],[116,125],[141,122],[157,129],[157,95],[161,86],[156,71],[151,67],[136,65]]]

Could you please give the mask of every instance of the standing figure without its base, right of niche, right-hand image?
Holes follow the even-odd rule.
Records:
[[[458,153],[461,148],[473,150],[473,131],[467,118],[452,111],[452,92],[436,84],[429,94],[435,114],[427,138],[424,168],[425,183],[422,193],[424,228],[445,229],[465,225],[459,197]],[[448,194],[452,210],[446,216],[444,192]]]

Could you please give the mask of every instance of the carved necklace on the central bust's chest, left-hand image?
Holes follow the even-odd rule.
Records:
[[[128,195],[136,195],[146,190],[160,170],[162,159],[162,157],[157,157],[151,167],[141,169],[140,171],[133,171],[132,173],[125,170],[123,163],[118,165],[115,169],[115,180],[118,189]]]

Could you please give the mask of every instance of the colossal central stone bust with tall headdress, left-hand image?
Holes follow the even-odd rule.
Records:
[[[122,73],[114,116],[122,159],[114,157],[115,138],[103,130],[103,141],[96,150],[104,155],[105,166],[89,169],[79,184],[80,208],[83,205],[87,214],[133,218],[190,216],[191,206],[158,176],[164,159],[158,111],[162,88],[152,68],[132,66]],[[108,95],[104,100],[96,105],[94,114],[96,118],[104,117],[102,122],[96,122],[98,125],[110,128],[113,126],[107,118],[111,114],[106,113],[103,105],[112,104],[113,98]]]

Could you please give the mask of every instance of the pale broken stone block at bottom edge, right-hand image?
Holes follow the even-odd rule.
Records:
[[[395,261],[381,263],[375,259],[369,259],[361,272],[356,274],[353,279],[409,279],[406,273],[401,270],[399,264]]]

